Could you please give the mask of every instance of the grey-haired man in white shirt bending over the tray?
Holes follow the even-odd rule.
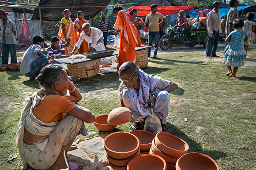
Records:
[[[102,43],[103,47],[103,33],[100,29],[91,27],[89,23],[84,23],[83,26],[83,32],[80,34],[79,40],[75,44],[74,49],[72,50],[71,54],[75,54],[75,51],[80,47],[83,40],[86,40],[87,43],[89,43],[89,50],[88,53],[93,51],[94,48],[97,50],[97,45],[100,45]],[[105,50],[105,47],[101,50]],[[98,50],[97,50],[98,51]]]

